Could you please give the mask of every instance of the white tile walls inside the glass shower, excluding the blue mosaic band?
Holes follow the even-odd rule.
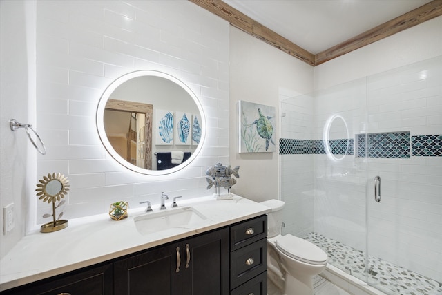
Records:
[[[345,118],[352,138],[365,131],[410,131],[411,140],[418,135],[441,135],[442,57],[311,96],[314,96],[314,111],[307,117],[305,112],[299,111],[311,108],[307,95],[282,103],[282,111],[289,116],[282,121],[283,138],[322,140],[327,118],[336,114]],[[296,112],[291,112],[294,106]],[[309,129],[305,128],[307,125]],[[298,132],[300,129],[305,133]],[[344,132],[334,134],[334,138],[346,137]],[[282,198],[289,206],[296,203],[285,214],[285,223],[289,225],[287,232],[303,236],[307,231],[316,231],[350,247],[368,251],[370,256],[442,282],[439,141],[436,139],[433,144],[435,152],[411,153],[407,158],[365,159],[346,155],[336,162],[324,154],[282,155]],[[313,163],[313,171],[302,162]],[[379,203],[374,202],[376,175],[382,180]],[[302,184],[300,179],[303,179]],[[302,197],[305,195],[311,197],[306,201]],[[302,210],[307,207],[306,214]],[[314,220],[314,230],[311,220]]]

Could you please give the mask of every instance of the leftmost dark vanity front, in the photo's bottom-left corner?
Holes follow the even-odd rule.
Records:
[[[17,287],[5,292],[3,295],[111,295],[113,294],[112,264],[99,267],[79,269],[75,272],[55,276],[37,283]]]

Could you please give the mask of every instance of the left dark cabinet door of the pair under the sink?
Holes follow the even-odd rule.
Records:
[[[178,244],[148,250],[114,263],[114,294],[178,294]],[[178,249],[178,253],[182,250]]]

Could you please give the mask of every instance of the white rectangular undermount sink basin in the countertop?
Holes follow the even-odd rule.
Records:
[[[206,216],[192,207],[182,207],[146,213],[142,216],[136,216],[133,221],[140,234],[152,234],[165,229],[195,225],[206,219]]]

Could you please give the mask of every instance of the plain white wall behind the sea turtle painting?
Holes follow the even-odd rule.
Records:
[[[251,200],[278,198],[280,97],[309,93],[313,67],[246,33],[230,30],[230,164],[240,165],[240,179],[232,191]],[[274,153],[238,153],[238,100],[276,108]],[[227,142],[222,143],[227,144]]]

